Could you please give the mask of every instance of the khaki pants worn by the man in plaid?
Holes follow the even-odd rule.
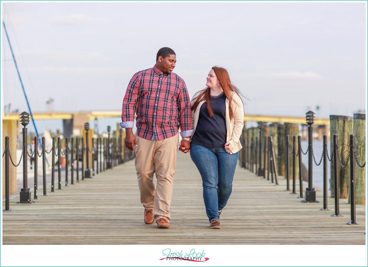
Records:
[[[141,203],[146,210],[153,210],[153,218],[170,222],[170,204],[173,194],[176,153],[179,134],[160,141],[136,136],[135,169],[137,170]],[[156,173],[157,188],[153,183]]]

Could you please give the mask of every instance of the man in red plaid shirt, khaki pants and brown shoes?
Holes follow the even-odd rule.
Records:
[[[185,82],[172,73],[175,63],[174,50],[164,47],[158,51],[153,68],[134,74],[124,96],[120,123],[126,129],[125,146],[132,151],[135,148],[144,222],[152,224],[156,219],[159,228],[169,228],[179,126],[183,137],[180,151],[189,150],[194,132]],[[132,132],[135,113],[136,136]]]

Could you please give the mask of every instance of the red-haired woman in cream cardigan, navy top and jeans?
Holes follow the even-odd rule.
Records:
[[[202,176],[203,199],[210,228],[220,228],[220,214],[229,200],[244,126],[243,101],[229,73],[212,67],[206,88],[191,101],[194,134],[190,156]],[[185,152],[187,152],[185,151]]]

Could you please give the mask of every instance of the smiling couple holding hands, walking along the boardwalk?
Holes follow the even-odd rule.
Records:
[[[175,52],[161,48],[155,66],[131,78],[123,100],[120,126],[125,128],[125,146],[136,153],[144,222],[152,224],[156,219],[159,228],[169,228],[180,127],[179,150],[190,152],[202,177],[210,228],[219,229],[220,214],[229,200],[238,151],[242,148],[241,93],[231,83],[226,69],[212,67],[206,88],[190,101],[184,80],[172,72],[175,63]],[[135,114],[136,135],[132,132]]]

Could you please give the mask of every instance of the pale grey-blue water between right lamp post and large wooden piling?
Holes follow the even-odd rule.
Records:
[[[304,152],[307,151],[308,141],[302,140],[301,147]],[[330,141],[327,142],[327,149],[328,149],[328,154],[331,157],[332,153],[330,152]],[[321,160],[322,150],[323,150],[323,141],[313,140],[313,152],[314,152],[314,157],[317,163],[319,163],[319,161]],[[305,167],[307,167],[308,169],[308,153],[307,155],[302,155],[301,161],[305,165]],[[330,161],[327,161],[327,189],[328,190],[330,190],[330,181],[329,181],[331,178],[330,170],[331,170]],[[320,187],[321,189],[323,189],[323,160],[321,162],[321,165],[319,166],[317,166],[313,161],[313,180],[312,182],[313,182],[313,187]]]

